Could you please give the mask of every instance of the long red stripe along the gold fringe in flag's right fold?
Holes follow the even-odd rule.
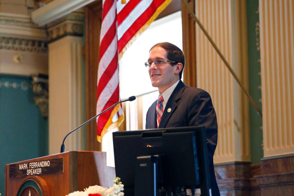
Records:
[[[123,34],[120,40],[118,40],[118,51],[121,52],[123,47],[128,43],[128,41],[137,33],[137,31],[150,19],[154,14],[156,9],[165,0],[153,1],[151,5],[146,9],[146,11],[138,17],[138,19],[132,24],[132,26]]]

